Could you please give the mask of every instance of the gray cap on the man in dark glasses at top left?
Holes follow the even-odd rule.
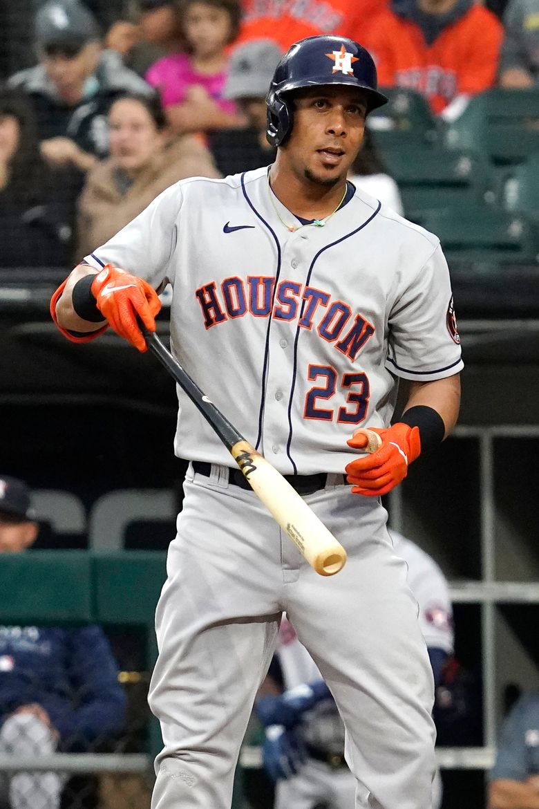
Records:
[[[80,50],[101,32],[91,11],[77,0],[49,0],[34,19],[36,43],[44,50],[67,48]]]

